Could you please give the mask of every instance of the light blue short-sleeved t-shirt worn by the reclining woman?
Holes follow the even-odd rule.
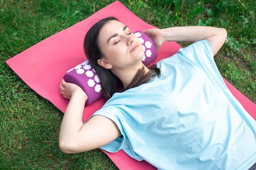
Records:
[[[256,162],[256,121],[228,90],[201,40],[157,63],[161,77],[115,93],[94,115],[122,136],[102,146],[124,150],[159,170],[247,170]]]

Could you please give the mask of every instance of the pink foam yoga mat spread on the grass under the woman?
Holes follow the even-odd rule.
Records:
[[[116,1],[85,20],[35,44],[6,62],[30,88],[52,102],[62,112],[65,112],[68,100],[64,99],[59,93],[61,79],[70,68],[86,60],[83,53],[85,33],[94,22],[108,16],[116,17],[126,24],[131,31],[144,31],[155,28],[139,19],[123,4]],[[180,48],[181,46],[176,42],[166,42],[157,52],[158,57],[155,62],[177,53]],[[256,104],[247,99],[226,80],[225,83],[247,112],[256,119]],[[86,121],[105,102],[106,100],[101,98],[90,106],[86,106],[83,113],[83,121]],[[156,169],[146,161],[139,162],[131,159],[122,150],[117,153],[103,152],[110,157],[120,170]]]

